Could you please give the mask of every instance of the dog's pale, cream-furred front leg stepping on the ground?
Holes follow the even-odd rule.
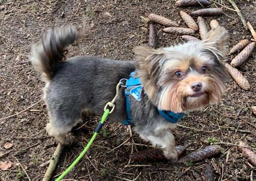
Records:
[[[178,154],[175,150],[175,140],[169,129],[144,130],[139,134],[144,140],[150,141],[153,146],[161,148],[167,159],[177,162]]]

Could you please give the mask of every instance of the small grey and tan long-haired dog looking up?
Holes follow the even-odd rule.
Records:
[[[219,26],[210,30],[205,40],[167,48],[138,46],[134,49],[136,61],[76,56],[62,62],[64,48],[80,37],[72,26],[53,28],[32,48],[30,60],[46,82],[48,134],[62,144],[70,144],[70,131],[81,121],[82,112],[102,115],[104,105],[116,94],[117,83],[135,71],[143,90],[140,101],[130,95],[133,129],[145,141],[161,148],[166,158],[177,160],[174,136],[169,131],[176,124],[167,122],[157,110],[174,113],[202,110],[222,99],[228,78],[223,66],[227,30]],[[124,88],[121,88],[109,119],[121,122],[126,118]]]

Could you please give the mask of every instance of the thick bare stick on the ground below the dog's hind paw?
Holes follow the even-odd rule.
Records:
[[[58,159],[61,155],[63,148],[64,148],[64,146],[62,144],[58,143],[58,146],[57,146],[55,152],[53,153],[53,157],[50,159],[49,167],[47,168],[47,171],[45,172],[42,181],[49,181],[51,179],[53,171],[58,163]]]

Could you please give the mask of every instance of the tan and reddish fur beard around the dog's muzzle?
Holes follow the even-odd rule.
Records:
[[[202,110],[207,105],[217,104],[222,99],[224,83],[214,76],[202,77],[203,90],[193,95],[188,90],[188,85],[191,84],[189,79],[164,87],[159,96],[158,108],[178,113]]]

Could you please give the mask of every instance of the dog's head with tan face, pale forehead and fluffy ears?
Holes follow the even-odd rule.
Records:
[[[225,90],[223,65],[228,32],[219,26],[207,38],[168,48],[142,45],[134,49],[145,93],[161,110],[185,112],[216,104]]]

